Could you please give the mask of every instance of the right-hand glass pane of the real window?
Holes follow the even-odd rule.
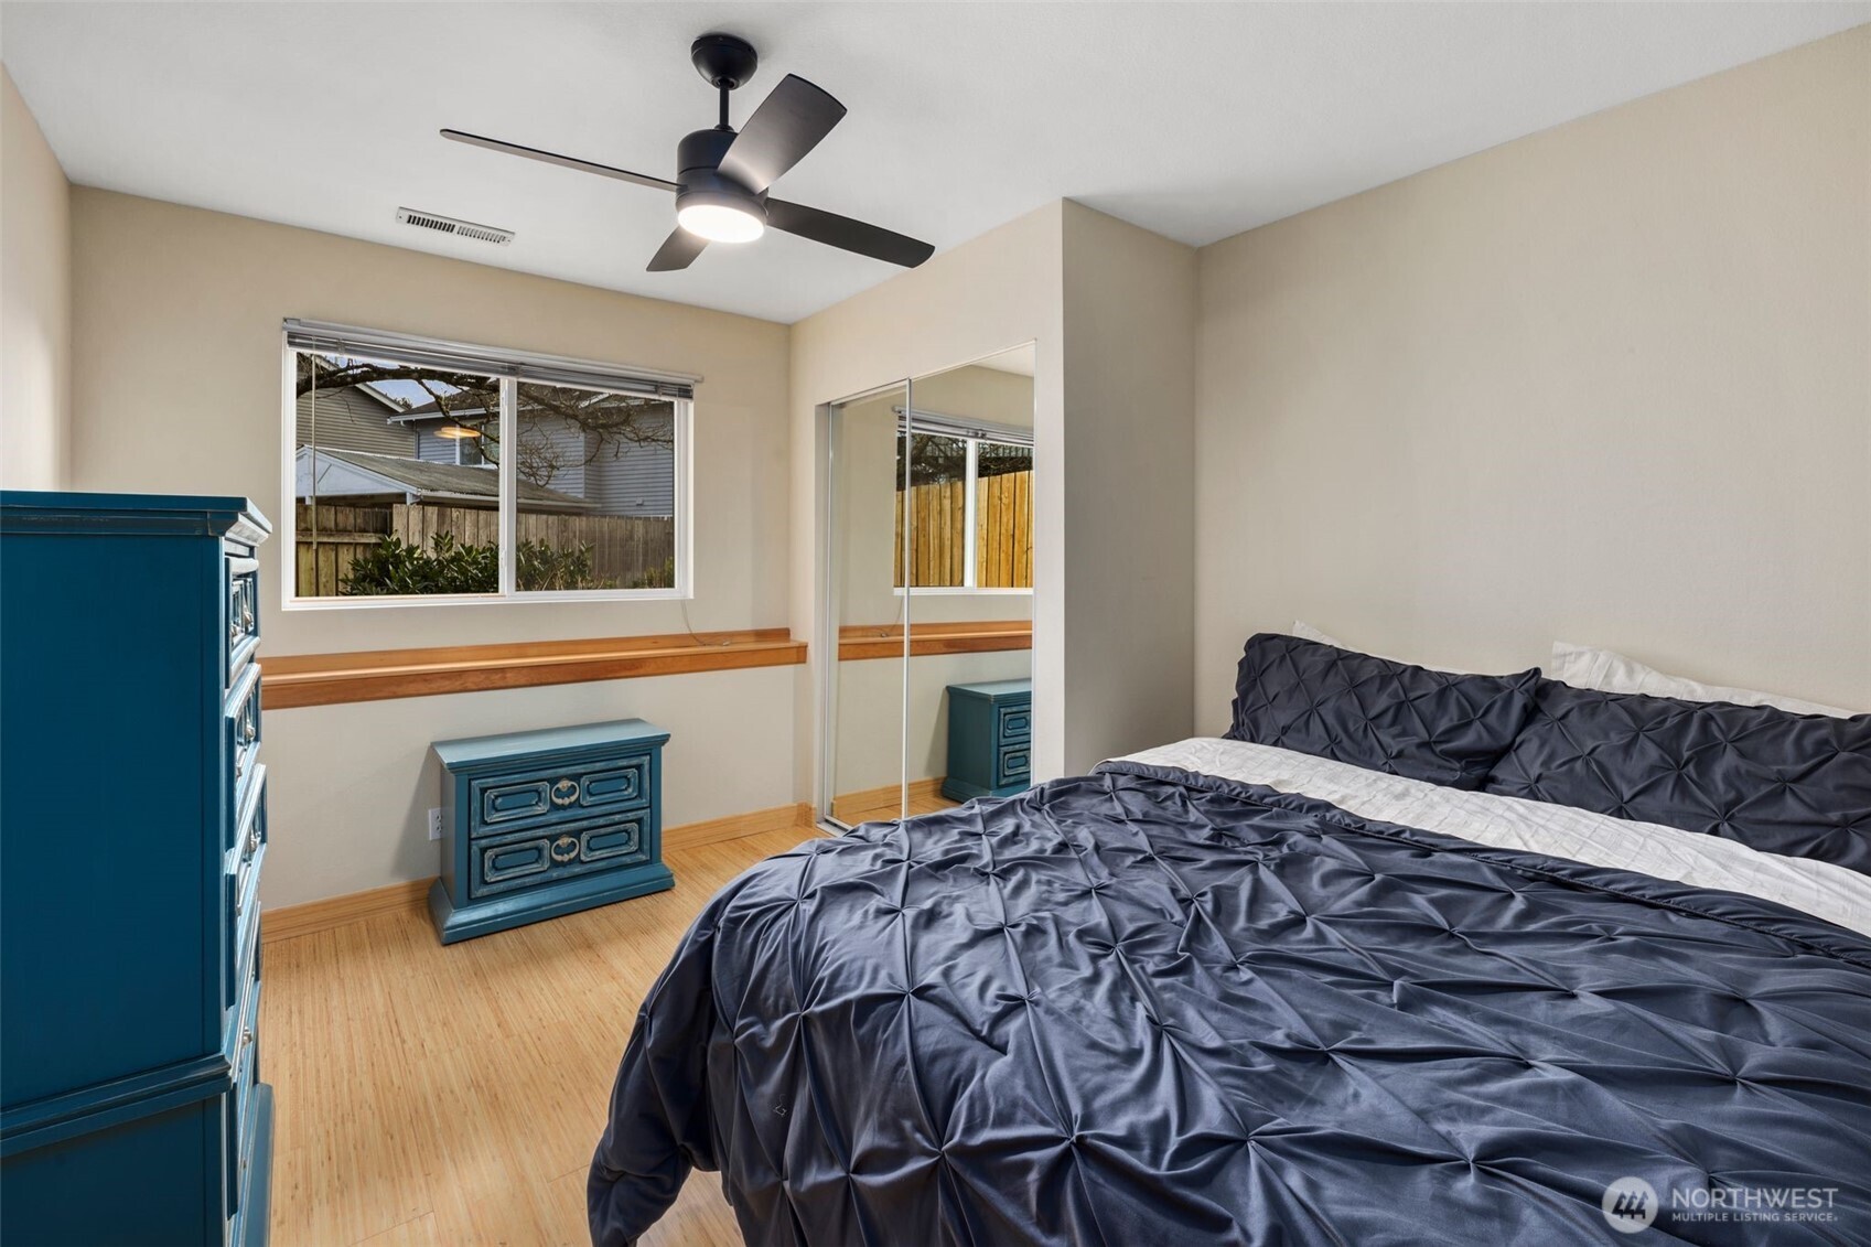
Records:
[[[675,406],[524,384],[515,588],[675,586]]]

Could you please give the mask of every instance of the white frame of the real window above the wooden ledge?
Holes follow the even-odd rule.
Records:
[[[668,601],[668,599],[692,599],[694,597],[694,399],[674,397],[670,399],[672,419],[674,419],[674,470],[675,470],[675,500],[672,506],[675,521],[675,584],[668,588],[616,588],[616,590],[520,590],[516,586],[518,577],[518,457],[501,453],[498,472],[500,472],[500,588],[494,594],[363,594],[357,597],[299,597],[297,594],[297,558],[299,558],[299,498],[297,498],[297,393],[296,393],[296,363],[303,346],[294,346],[290,343],[290,324],[281,330],[279,335],[279,393],[281,393],[281,492],[279,496],[286,500],[286,567],[281,580],[281,607],[284,610],[384,610],[395,607],[501,607],[516,603],[574,603],[574,601]],[[374,335],[382,339],[397,339],[400,335]],[[659,373],[653,369],[634,369],[617,367],[606,363],[589,363],[578,359],[559,359],[558,356],[537,356],[531,352],[501,350],[498,346],[464,346],[460,343],[443,343],[438,339],[406,339],[412,345],[436,350],[460,350],[475,352],[483,358],[496,359],[515,359],[515,361],[550,361],[571,367],[582,367],[586,371],[608,371],[617,374],[645,374],[651,378],[672,378],[685,384],[696,384],[700,376],[683,376],[674,373]],[[389,345],[384,350],[355,352],[361,359],[380,359],[384,363],[404,363],[395,356],[395,346]],[[462,363],[460,371],[475,373],[481,369]],[[520,380],[515,376],[500,376],[500,446],[518,446],[518,393]],[[526,384],[554,384],[554,382],[533,382]],[[580,389],[604,391],[604,393],[632,393],[629,389],[616,389],[610,386],[595,382],[563,382],[567,386],[576,386]],[[458,461],[458,455],[457,455]]]

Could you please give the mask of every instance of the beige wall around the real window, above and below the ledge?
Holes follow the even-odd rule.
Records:
[[[266,547],[268,653],[683,631],[683,605],[283,610],[284,316],[700,373],[696,629],[788,624],[788,330],[479,264],[73,193],[77,489],[249,494]],[[268,715],[268,902],[436,873],[432,740],[642,715],[666,726],[664,822],[786,805],[791,668],[361,702]]]

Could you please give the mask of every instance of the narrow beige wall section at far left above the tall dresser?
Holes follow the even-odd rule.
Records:
[[[0,487],[64,489],[71,187],[0,66]]]

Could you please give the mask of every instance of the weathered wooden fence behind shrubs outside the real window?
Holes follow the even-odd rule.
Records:
[[[430,549],[430,537],[453,534],[460,545],[500,541],[500,513],[443,506],[312,506],[297,504],[297,594],[337,597],[350,565],[384,537]],[[675,552],[675,522],[666,515],[533,515],[516,517],[520,541],[544,541],[556,550],[591,547],[591,573],[617,588],[660,575]]]

